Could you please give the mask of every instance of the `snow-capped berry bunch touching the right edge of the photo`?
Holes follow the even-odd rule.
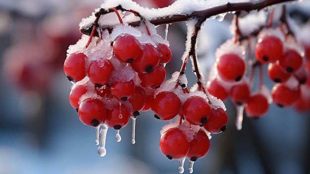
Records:
[[[293,36],[286,35],[284,40],[280,34],[281,31],[273,29],[262,30],[255,47],[256,58],[268,64],[268,77],[276,83],[271,90],[273,103],[279,107],[309,110],[310,102],[306,101],[310,93],[310,70],[303,48]]]

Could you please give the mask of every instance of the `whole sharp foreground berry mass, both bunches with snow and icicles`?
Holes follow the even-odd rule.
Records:
[[[161,130],[159,148],[168,159],[180,160],[180,173],[188,158],[192,173],[194,161],[207,154],[210,134],[226,130],[226,108],[205,87],[201,89],[202,84],[189,91],[184,72],[175,72],[162,85],[171,52],[165,40],[151,33],[151,27],[155,26],[120,24],[110,33],[83,36],[70,46],[63,65],[73,83],[69,101],[80,120],[96,128],[100,156],[106,153],[108,127],[116,130],[116,141],[120,141],[119,130],[130,118],[134,125],[141,111],[152,110],[155,118],[170,120]]]

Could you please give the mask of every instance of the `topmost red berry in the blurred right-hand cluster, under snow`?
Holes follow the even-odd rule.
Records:
[[[276,36],[258,39],[255,46],[255,56],[261,63],[275,62],[282,57],[282,52],[282,41]]]

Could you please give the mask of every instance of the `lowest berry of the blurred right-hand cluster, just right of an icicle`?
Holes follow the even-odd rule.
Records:
[[[265,115],[269,104],[267,98],[259,93],[253,94],[245,104],[245,113],[252,118],[258,118]]]

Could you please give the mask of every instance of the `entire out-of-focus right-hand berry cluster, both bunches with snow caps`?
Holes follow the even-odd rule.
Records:
[[[230,97],[235,106],[244,107],[246,115],[253,118],[264,116],[272,101],[279,107],[309,110],[309,60],[307,56],[304,58],[295,38],[284,36],[281,30],[265,28],[258,34],[254,49],[255,60],[245,58],[243,46],[231,40],[217,49],[213,74],[207,82],[210,94],[223,101]],[[271,92],[262,84],[263,64],[268,64],[268,76],[276,83]],[[251,71],[253,73],[257,65],[260,67],[259,87],[251,92]],[[249,76],[246,76],[247,69],[250,69]]]

